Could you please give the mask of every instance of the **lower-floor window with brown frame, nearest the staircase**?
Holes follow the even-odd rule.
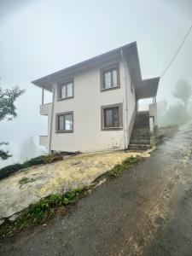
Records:
[[[122,129],[122,103],[102,106],[102,130]]]

